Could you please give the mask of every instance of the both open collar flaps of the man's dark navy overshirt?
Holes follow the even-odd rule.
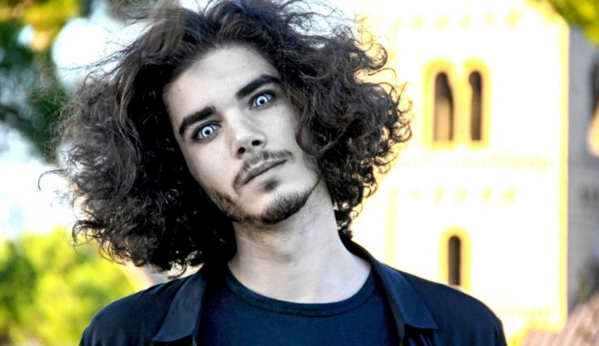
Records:
[[[366,249],[354,242],[345,242],[345,246],[350,252],[369,261],[380,278],[393,311],[400,340],[405,336],[405,324],[421,329],[438,328],[428,307],[400,271],[377,261]],[[216,268],[213,269],[211,264],[205,264],[197,273],[184,279],[185,283],[173,298],[166,318],[152,341],[171,342],[190,336],[195,339],[199,319],[202,316],[202,297],[204,297],[206,283],[212,276],[211,272]]]

